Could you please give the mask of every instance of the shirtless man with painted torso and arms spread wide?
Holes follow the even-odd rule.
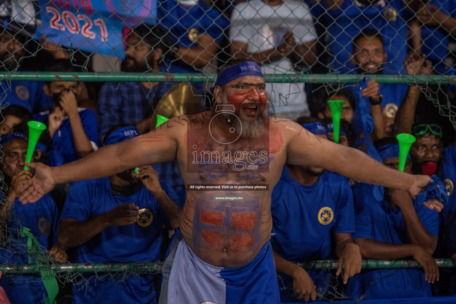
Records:
[[[187,195],[181,234],[171,244],[163,268],[159,303],[266,304],[280,301],[269,245],[270,199],[285,162],[321,167],[410,196],[431,181],[321,140],[288,119],[269,117],[263,74],[255,62],[226,63],[213,90],[216,109],[170,119],[148,134],[70,164],[31,164],[35,175],[21,188],[22,203],[38,200],[56,183],[176,159]],[[239,190],[246,184],[264,190]]]

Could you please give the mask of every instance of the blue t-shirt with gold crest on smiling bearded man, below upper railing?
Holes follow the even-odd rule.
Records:
[[[355,93],[356,86],[347,86],[353,93]],[[380,83],[378,92],[382,94],[382,108],[383,114],[386,117],[395,117],[402,100],[409,86],[406,83]]]

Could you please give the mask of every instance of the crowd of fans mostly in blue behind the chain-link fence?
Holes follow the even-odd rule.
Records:
[[[368,77],[452,71],[448,45],[456,31],[455,1],[236,3],[159,2],[157,26],[140,25],[125,31],[121,70],[196,73],[232,57],[257,62],[264,73],[319,71]],[[36,57],[25,56],[40,45],[47,49]],[[68,54],[61,46],[27,41],[21,32],[5,25],[1,28],[3,71],[79,71],[78,59],[70,59]],[[46,62],[36,58],[46,58]],[[19,222],[29,227],[56,263],[163,260],[185,202],[185,186],[174,162],[140,167],[139,173],[132,168],[102,179],[57,185],[39,203],[22,205],[18,195],[21,185],[31,178],[30,171],[23,170],[27,121],[47,125],[33,161],[62,165],[101,146],[149,132],[155,107],[175,85],[105,82],[98,86],[58,79],[1,82],[3,104],[9,105],[1,111],[1,169],[7,190],[0,219],[11,229]],[[210,99],[202,82],[192,85]],[[439,273],[434,261],[456,261],[455,132],[422,93],[427,86],[378,84],[370,79],[361,98],[368,99],[368,114],[373,119],[369,139],[383,164],[398,169],[395,135],[415,135],[405,171],[437,175],[446,186],[449,202],[443,210],[431,210],[406,192],[391,189],[384,189],[384,199],[378,201],[372,185],[316,167],[285,166],[271,199],[276,269],[289,286],[281,290],[282,301],[316,300],[316,294],[324,295],[330,282],[328,272],[306,271],[290,261],[331,258],[340,262],[337,275],[344,265],[344,290],[352,299],[456,295],[454,273],[451,269]],[[366,151],[365,134],[354,127],[357,111],[359,114],[358,87],[321,92],[309,88],[314,87],[306,84],[305,88],[302,82],[267,83],[270,113],[295,120],[322,140],[333,140],[327,101],[343,100],[339,143]],[[434,92],[451,97],[451,89],[435,85]],[[202,104],[205,102],[202,98]],[[14,237],[26,242],[24,237]],[[11,241],[7,245],[0,251],[0,263],[28,263],[26,252],[21,253]],[[423,268],[361,271],[362,258],[410,257]],[[154,284],[160,290],[151,274],[130,276],[116,284],[110,276],[99,282],[90,276],[84,279],[88,284],[74,285],[71,295],[60,300],[155,303]],[[42,282],[27,276],[3,277],[0,286],[11,303],[41,303],[46,297]]]

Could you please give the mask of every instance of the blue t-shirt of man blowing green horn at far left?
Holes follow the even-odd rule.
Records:
[[[42,252],[46,252],[51,246],[57,244],[58,210],[52,196],[46,194],[35,203],[26,205],[22,205],[16,198],[8,222],[11,234],[6,234],[6,237],[12,239],[6,241],[4,247],[0,249],[1,264],[29,263],[28,237],[19,236],[19,224],[30,228],[30,232],[40,244]],[[36,263],[35,258],[33,258],[32,263]],[[26,275],[2,276],[0,286],[5,289],[11,303],[44,303],[43,298],[47,297],[46,289],[40,278]]]

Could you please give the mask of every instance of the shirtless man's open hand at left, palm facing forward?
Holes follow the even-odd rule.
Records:
[[[35,174],[19,189],[19,200],[23,205],[38,201],[46,193],[54,189],[56,183],[52,178],[51,167],[42,163],[25,163]]]

